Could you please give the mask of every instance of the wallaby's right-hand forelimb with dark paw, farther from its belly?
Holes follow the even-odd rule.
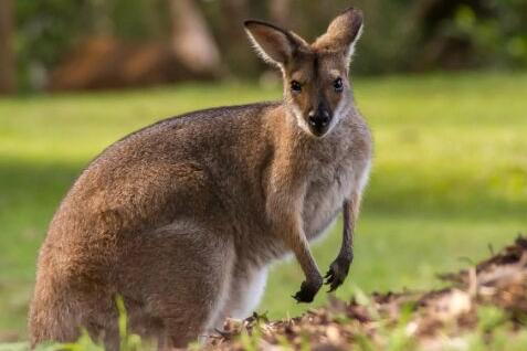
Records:
[[[329,291],[336,290],[348,276],[349,266],[354,260],[354,232],[355,223],[359,214],[360,194],[354,193],[350,200],[346,200],[342,205],[344,228],[342,243],[337,258],[329,266],[325,278],[329,285]]]

